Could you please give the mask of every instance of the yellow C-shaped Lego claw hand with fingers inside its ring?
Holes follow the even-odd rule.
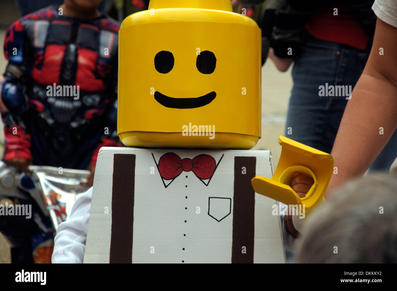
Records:
[[[272,179],[254,177],[252,187],[256,193],[284,204],[304,205],[308,213],[323,200],[333,171],[333,158],[287,137],[280,136],[279,144],[281,156]]]

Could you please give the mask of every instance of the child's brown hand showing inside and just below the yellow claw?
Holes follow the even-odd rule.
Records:
[[[310,190],[314,183],[312,177],[300,174],[298,172],[292,173],[291,188],[295,191],[299,197],[305,197],[306,193]],[[293,216],[285,214],[284,216],[284,227],[287,232],[296,239],[299,235],[299,231],[295,228],[293,224]]]

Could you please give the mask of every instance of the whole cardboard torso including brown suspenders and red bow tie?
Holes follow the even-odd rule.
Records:
[[[272,177],[270,152],[102,148],[84,262],[285,262],[255,175]]]

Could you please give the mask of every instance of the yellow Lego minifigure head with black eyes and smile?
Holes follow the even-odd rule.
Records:
[[[261,33],[229,0],[151,0],[119,31],[118,135],[127,146],[252,148]]]

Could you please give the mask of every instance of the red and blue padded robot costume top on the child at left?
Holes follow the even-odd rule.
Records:
[[[120,145],[119,25],[105,15],[79,19],[60,14],[58,6],[44,8],[15,21],[6,33],[4,160],[86,169],[96,163],[101,146]],[[54,85],[78,86],[79,95],[51,96],[48,86]]]

